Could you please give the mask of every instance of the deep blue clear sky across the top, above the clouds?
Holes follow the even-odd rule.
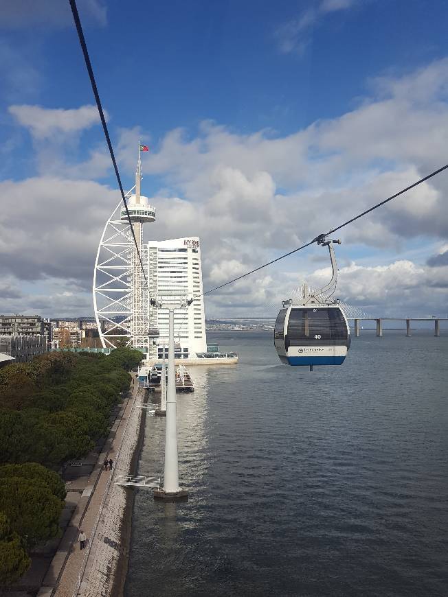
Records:
[[[91,103],[66,4],[59,27],[3,30],[38,78],[5,93],[3,108],[12,99],[53,108]],[[355,106],[380,74],[401,75],[447,56],[447,3],[433,1],[428,11],[421,0],[341,2],[348,8],[317,16],[282,51],[289,36],[282,27],[319,4],[129,1],[124,9],[109,2],[102,26],[82,2],[79,10],[113,126],[139,126],[155,145],[168,130],[194,132],[207,119],[238,132],[288,134]],[[86,134],[85,146],[99,137],[99,130]]]

